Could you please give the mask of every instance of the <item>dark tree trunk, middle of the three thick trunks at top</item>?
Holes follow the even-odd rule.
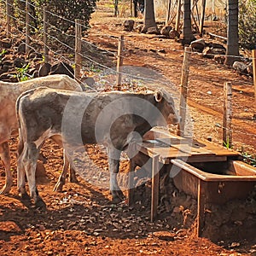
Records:
[[[191,29],[191,1],[184,0],[184,12],[183,12],[183,35],[182,35],[182,43],[190,44],[195,40],[195,37],[192,33]]]

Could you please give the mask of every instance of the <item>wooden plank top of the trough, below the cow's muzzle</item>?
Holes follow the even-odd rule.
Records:
[[[152,158],[159,154],[159,160],[163,164],[169,164],[172,159],[188,162],[225,161],[230,156],[239,158],[241,155],[214,143],[179,137],[163,129],[155,128],[150,132],[154,132],[154,136],[149,136],[154,139],[144,141],[141,146],[137,145],[137,150]]]

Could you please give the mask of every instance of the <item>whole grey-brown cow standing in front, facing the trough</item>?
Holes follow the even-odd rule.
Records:
[[[40,148],[51,137],[63,144],[71,162],[74,148],[100,143],[108,149],[110,191],[113,201],[124,199],[117,183],[119,157],[128,137],[142,137],[155,125],[177,123],[172,97],[164,90],[149,93],[79,93],[38,88],[19,97],[18,190],[26,198],[25,173],[37,207],[45,207],[38,195],[35,171]],[[62,173],[62,178],[65,173]],[[59,182],[61,182],[61,177]]]

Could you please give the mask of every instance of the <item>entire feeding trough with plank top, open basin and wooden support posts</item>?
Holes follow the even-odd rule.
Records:
[[[242,162],[238,152],[209,142],[154,131],[154,140],[137,145],[137,152],[131,159],[132,168],[142,166],[147,158],[152,159],[149,161],[152,170],[151,220],[157,214],[159,170],[165,166],[177,189],[197,200],[198,236],[203,229],[207,203],[222,205],[233,199],[247,198],[256,186],[256,168]],[[131,174],[130,188],[132,178]],[[134,189],[129,189],[129,203],[132,203],[133,193]]]

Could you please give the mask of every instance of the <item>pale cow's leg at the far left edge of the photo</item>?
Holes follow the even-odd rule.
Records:
[[[3,161],[3,166],[5,168],[5,184],[0,194],[7,194],[11,189],[13,184],[13,177],[10,170],[10,155],[9,155],[9,144],[4,142],[0,144],[0,158]]]

